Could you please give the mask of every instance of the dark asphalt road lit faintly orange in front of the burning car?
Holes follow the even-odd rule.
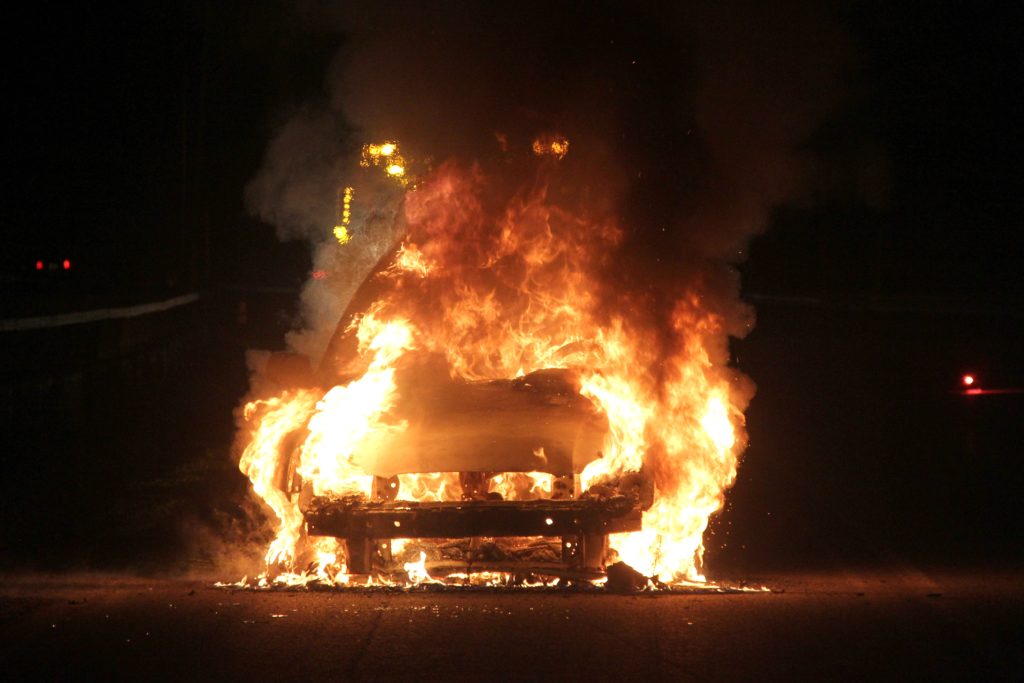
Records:
[[[840,571],[621,596],[7,577],[0,651],[6,680],[1020,680],[1022,578]]]

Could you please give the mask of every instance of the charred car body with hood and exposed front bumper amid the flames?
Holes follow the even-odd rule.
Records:
[[[398,249],[382,259],[356,294],[319,375],[341,368],[348,383],[365,376],[356,324],[367,311],[357,307],[379,299],[402,255]],[[278,354],[270,362],[279,383],[311,379],[301,358]],[[608,535],[640,530],[653,493],[648,479],[635,474],[581,490],[581,473],[602,456],[608,421],[581,395],[571,370],[464,381],[453,379],[436,353],[414,352],[396,367],[394,386],[399,398],[386,424],[349,456],[351,467],[372,477],[369,495],[318,495],[318,472],[302,469],[301,450],[283,453],[279,464],[275,485],[300,501],[309,537],[342,542],[348,572],[394,570],[392,541],[415,539],[432,542],[431,571],[598,579]],[[424,496],[427,488],[432,495]]]

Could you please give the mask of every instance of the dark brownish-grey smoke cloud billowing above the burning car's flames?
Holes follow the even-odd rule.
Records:
[[[339,34],[326,98],[281,128],[247,190],[254,213],[308,241],[331,273],[307,285],[307,329],[291,346],[319,356],[402,231],[400,197],[380,186],[356,198],[352,242],[332,243],[362,142],[470,163],[551,131],[571,141],[561,196],[626,231],[604,278],[609,309],[667,319],[681,291],[697,291],[744,335],[753,315],[734,266],[771,208],[800,191],[799,145],[842,95],[849,54],[817,3],[751,4],[304,5]]]

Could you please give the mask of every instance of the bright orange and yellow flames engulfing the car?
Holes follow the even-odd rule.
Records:
[[[534,143],[541,156],[560,159],[567,150],[562,137]],[[367,145],[361,164],[392,176],[406,172],[395,142]],[[344,194],[343,223],[352,191]],[[400,245],[368,281],[373,297],[339,329],[324,358],[321,384],[261,396],[245,408],[240,467],[276,519],[260,585],[353,582],[345,544],[308,535],[303,510],[310,497],[536,501],[572,498],[574,492],[605,500],[633,484],[642,490],[637,482],[649,482],[653,492],[643,528],[612,535],[610,553],[665,585],[703,582],[703,531],[735,478],[745,446],[742,411],[752,393],[745,378],[728,367],[726,324],[705,305],[703,283],[681,287],[665,319],[632,314],[635,304],[609,311],[598,293],[622,229],[556,205],[543,182],[496,204],[476,167],[436,168],[416,190],[407,190],[403,220]],[[557,454],[552,460],[553,452],[536,442],[521,454],[530,466],[520,471],[485,472],[477,479],[399,471],[388,479],[390,473],[378,471],[381,463],[396,444],[422,434],[411,422],[418,414],[402,401],[412,400],[414,388],[423,390],[420,384],[441,381],[408,378],[431,378],[430,369],[438,368],[441,384],[453,386],[565,369],[578,378],[579,393],[558,394],[558,400],[582,400],[599,411],[604,442],[599,453],[573,460],[574,475],[556,472]],[[385,481],[391,483],[381,488]],[[553,517],[545,521],[555,524]],[[394,527],[404,528],[397,520]],[[571,550],[573,542],[553,543],[527,539],[512,550],[498,544],[492,563],[523,548],[529,557],[547,557],[560,543]],[[472,562],[464,562],[469,569],[453,568],[453,548],[442,552],[431,540],[386,542],[372,551],[401,571],[357,583],[479,578]],[[479,553],[472,548],[465,552]],[[529,571],[490,575],[503,585],[551,580]]]

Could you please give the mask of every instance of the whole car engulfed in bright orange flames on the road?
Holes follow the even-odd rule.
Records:
[[[316,371],[268,360],[240,435],[276,519],[260,585],[703,581],[752,393],[733,331],[699,276],[667,318],[606,294],[623,231],[553,198],[553,139],[511,191],[455,163],[403,184]],[[396,144],[372,152],[403,176]]]

